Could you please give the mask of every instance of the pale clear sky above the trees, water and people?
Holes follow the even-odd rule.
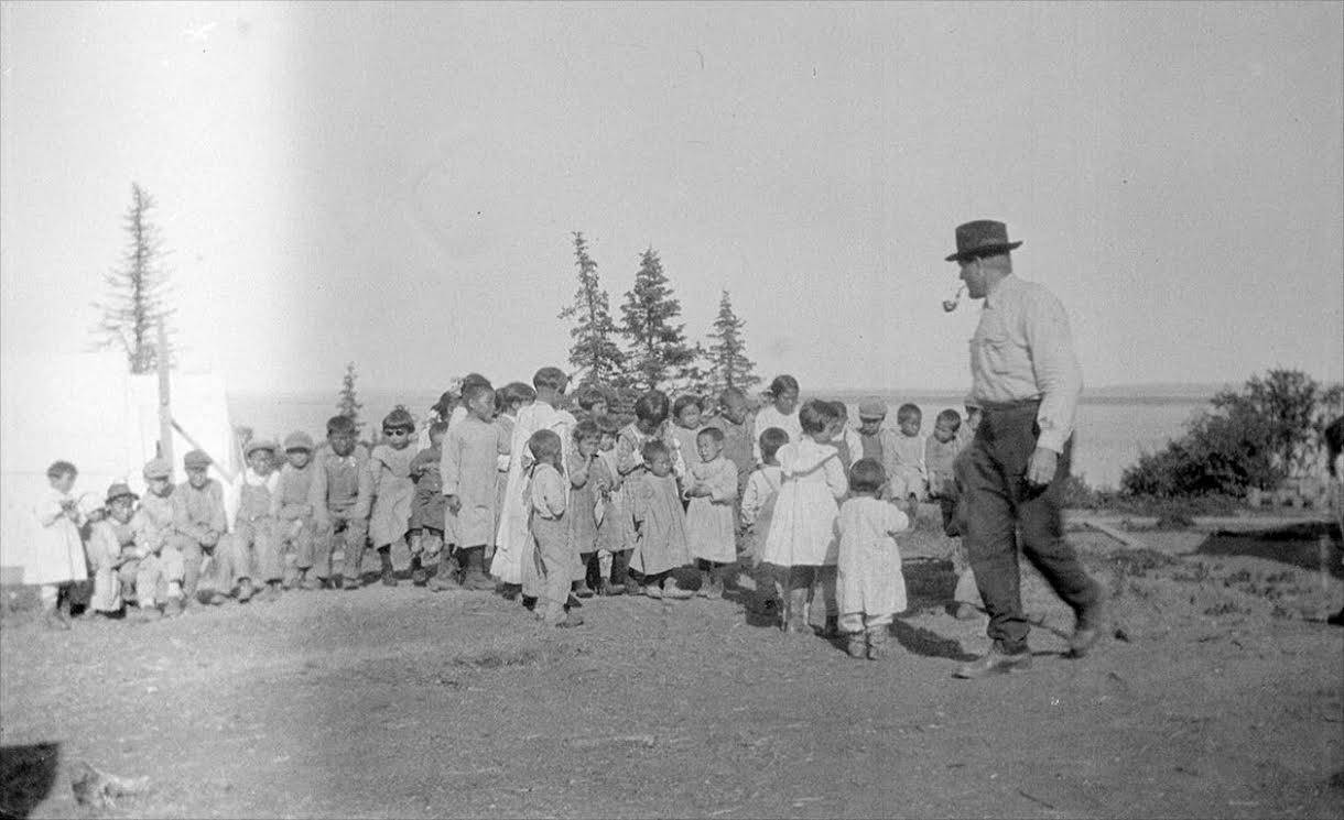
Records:
[[[3,5],[5,353],[85,349],[159,203],[188,362],[435,391],[563,364],[571,231],[763,374],[965,388],[1008,223],[1089,385],[1344,374],[1344,5]],[[7,388],[11,385],[5,385]]]

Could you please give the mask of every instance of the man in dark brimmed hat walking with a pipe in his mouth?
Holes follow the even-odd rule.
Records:
[[[1048,290],[1013,275],[1001,221],[957,228],[957,251],[972,299],[984,299],[970,340],[968,404],[981,408],[976,438],[962,454],[965,546],[989,613],[989,651],[957,670],[984,678],[1031,666],[1021,608],[1017,546],[1077,615],[1070,654],[1082,656],[1103,628],[1105,592],[1083,572],[1060,517],[1073,451],[1082,370],[1068,317]]]

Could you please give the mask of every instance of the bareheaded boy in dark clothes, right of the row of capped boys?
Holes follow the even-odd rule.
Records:
[[[355,436],[355,421],[349,416],[327,420],[327,442],[313,459],[308,497],[313,507],[316,550],[332,562],[331,582],[337,589],[344,585],[344,574],[335,572],[336,561],[348,562],[356,549],[363,554],[368,540],[368,448]],[[358,566],[355,576],[359,576]]]

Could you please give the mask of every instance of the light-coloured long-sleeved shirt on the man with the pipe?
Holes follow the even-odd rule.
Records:
[[[1039,399],[1036,446],[1063,452],[1083,374],[1059,299],[1035,282],[1013,275],[1000,280],[985,297],[970,337],[970,378],[977,404]]]

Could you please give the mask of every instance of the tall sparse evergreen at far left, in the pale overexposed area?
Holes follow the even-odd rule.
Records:
[[[165,251],[159,228],[149,220],[153,197],[137,183],[130,184],[130,208],[125,228],[129,238],[121,267],[108,272],[106,302],[95,302],[102,321],[94,333],[102,337],[99,348],[121,348],[132,373],[151,373],[159,366],[159,325],[172,336],[167,305],[168,271],[163,264]],[[171,352],[164,352],[171,356]]]

